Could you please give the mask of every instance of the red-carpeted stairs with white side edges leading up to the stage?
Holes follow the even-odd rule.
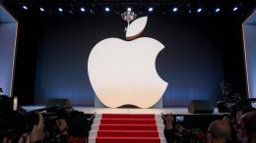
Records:
[[[96,115],[89,143],[166,143],[160,115]]]

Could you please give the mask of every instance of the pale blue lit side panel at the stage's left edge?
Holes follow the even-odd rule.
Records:
[[[12,96],[18,22],[0,5],[0,87]]]

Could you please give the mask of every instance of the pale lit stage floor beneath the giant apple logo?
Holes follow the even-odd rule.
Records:
[[[23,106],[27,111],[32,111],[44,106]],[[73,107],[77,111],[84,112],[85,114],[167,114],[172,113],[175,115],[190,115],[186,107],[175,108],[162,108],[162,109],[135,109],[135,108],[93,108],[93,107]],[[224,115],[219,113],[218,109],[214,109],[213,115]]]

